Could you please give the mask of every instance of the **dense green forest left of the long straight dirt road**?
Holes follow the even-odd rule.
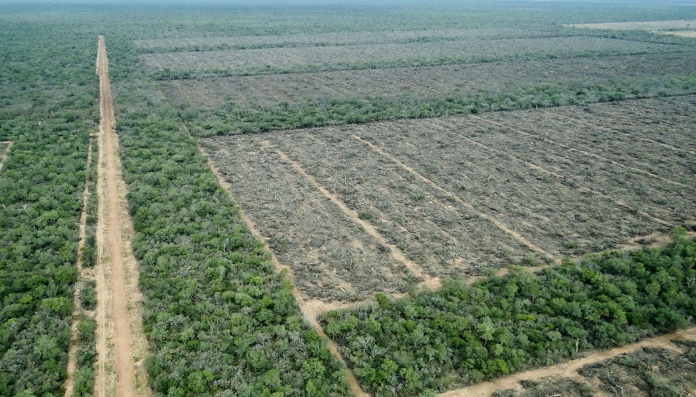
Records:
[[[0,22],[0,395],[61,394],[87,143],[98,121],[94,40]]]

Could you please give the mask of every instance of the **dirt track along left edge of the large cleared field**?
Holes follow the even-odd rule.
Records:
[[[189,127],[184,124],[184,129],[189,132]],[[190,132],[189,132],[190,136]],[[193,137],[191,137],[193,139]],[[368,394],[363,391],[363,389],[360,387],[360,384],[358,383],[358,380],[356,379],[353,371],[348,367],[347,362],[343,358],[343,356],[340,353],[340,350],[338,349],[338,345],[333,341],[333,339],[329,338],[329,336],[326,336],[326,333],[324,332],[324,329],[322,329],[322,326],[319,325],[319,321],[317,321],[317,317],[319,316],[319,313],[322,313],[323,309],[321,306],[315,306],[314,301],[306,301],[305,299],[302,298],[301,293],[299,290],[294,286],[294,276],[292,269],[288,267],[287,265],[283,265],[280,263],[280,260],[278,260],[278,257],[276,254],[271,250],[271,248],[268,246],[268,244],[265,243],[265,240],[263,238],[263,235],[260,233],[260,231],[256,228],[255,224],[249,218],[246,213],[242,210],[242,207],[239,206],[239,203],[235,200],[235,197],[232,196],[232,192],[230,191],[230,184],[221,176],[219,170],[217,167],[213,164],[211,157],[208,155],[207,150],[203,148],[203,146],[200,145],[200,143],[197,143],[198,145],[198,151],[200,152],[203,157],[205,157],[207,164],[214,174],[215,178],[217,179],[218,183],[220,186],[227,192],[228,197],[232,201],[232,203],[235,205],[237,208],[237,212],[239,213],[239,217],[242,219],[246,227],[251,231],[251,234],[258,239],[260,242],[263,243],[263,250],[269,254],[271,257],[271,263],[273,263],[274,267],[276,268],[277,272],[282,272],[283,270],[287,271],[288,278],[290,281],[292,281],[293,286],[292,286],[292,297],[294,297],[295,302],[297,303],[297,306],[299,306],[300,311],[303,313],[304,318],[309,322],[310,326],[319,334],[320,336],[323,336],[326,338],[326,348],[329,349],[333,357],[338,359],[338,361],[345,366],[346,370],[348,371],[348,385],[353,392],[353,394],[356,395],[356,397],[367,397]]]

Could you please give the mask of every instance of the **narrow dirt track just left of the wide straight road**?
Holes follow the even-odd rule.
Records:
[[[87,143],[87,164],[89,167],[89,164],[92,162],[92,144],[93,144],[93,138],[89,139],[89,142]],[[0,164],[1,165],[1,164]],[[89,168],[88,168],[89,169]],[[88,197],[90,195],[89,192],[89,175],[90,173],[87,172],[85,174],[85,188],[82,191],[82,212],[80,214],[80,223],[79,223],[79,237],[80,240],[77,242],[77,260],[75,260],[75,266],[77,267],[77,271],[79,272],[79,276],[77,279],[77,283],[75,286],[75,290],[72,294],[72,302],[74,304],[74,308],[72,309],[72,319],[71,319],[71,324],[70,324],[70,343],[68,345],[68,375],[65,378],[65,397],[71,397],[72,396],[72,391],[74,389],[74,375],[75,371],[77,369],[77,323],[79,322],[80,318],[80,311],[81,311],[81,305],[79,302],[79,296],[81,292],[81,288],[79,288],[81,281],[84,281],[88,274],[84,270],[84,267],[82,267],[82,258],[83,258],[83,251],[82,248],[85,246],[85,240],[87,238],[87,201]],[[92,192],[94,194],[95,192]]]

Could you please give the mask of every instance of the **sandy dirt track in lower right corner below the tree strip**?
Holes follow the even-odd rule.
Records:
[[[646,347],[665,348],[668,350],[681,352],[681,350],[677,348],[677,346],[675,346],[674,343],[672,343],[672,340],[686,340],[693,338],[696,338],[696,327],[680,329],[679,331],[674,332],[672,334],[655,336],[653,338],[644,339],[640,342],[628,343],[627,345],[623,345],[618,348],[612,348],[610,350],[601,350],[599,352],[591,353],[590,355],[587,355],[585,357],[565,361],[561,364],[555,364],[552,366],[546,366],[520,373],[514,373],[512,375],[500,377],[496,380],[492,380],[489,382],[483,382],[461,389],[446,391],[445,393],[442,393],[439,396],[488,397],[491,396],[491,394],[493,394],[493,392],[495,392],[496,390],[515,389],[519,387],[519,382],[521,380],[541,380],[545,377],[551,376],[571,377],[578,379],[580,375],[576,371],[579,368],[586,366],[587,364],[594,364],[599,361],[612,359],[613,357],[617,357],[619,355],[623,355],[628,352],[633,352],[640,348]]]

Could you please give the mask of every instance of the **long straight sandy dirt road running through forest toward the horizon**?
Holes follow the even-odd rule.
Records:
[[[139,352],[146,350],[144,334],[141,334],[142,323],[139,313],[139,292],[137,291],[137,272],[133,272],[132,267],[135,263],[129,244],[124,244],[123,233],[128,232],[129,226],[127,212],[125,208],[125,184],[120,180],[120,162],[118,161],[118,137],[113,130],[115,118],[113,113],[113,103],[111,98],[111,86],[109,84],[109,61],[106,58],[106,45],[104,36],[99,36],[99,52],[97,56],[97,72],[100,75],[100,162],[98,164],[97,193],[100,198],[100,217],[97,228],[97,247],[99,248],[99,258],[97,266],[102,267],[101,277],[97,276],[97,301],[108,302],[111,300],[111,324],[113,325],[113,350],[116,366],[116,391],[118,396],[136,396],[148,394],[143,390],[136,393],[136,366],[134,362],[134,347]],[[108,223],[107,223],[108,222]],[[123,228],[122,226],[126,226]],[[105,234],[108,233],[108,242]],[[130,233],[128,233],[130,234]],[[108,244],[108,247],[105,247]],[[108,254],[104,255],[104,253]],[[110,265],[106,269],[106,265]],[[136,267],[136,266],[135,266]],[[111,276],[111,294],[109,296],[106,286],[105,273]],[[128,276],[128,277],[127,277]],[[100,280],[101,278],[101,280]],[[100,281],[102,281],[100,283]],[[135,289],[133,288],[135,286]],[[101,288],[100,288],[101,287]],[[129,313],[131,306],[132,313]],[[97,354],[100,356],[100,371],[97,372],[97,395],[105,394],[107,380],[104,379],[106,369],[104,366],[110,354],[107,351],[106,333],[107,327],[104,321],[106,307],[101,306],[102,312],[97,316],[102,320],[99,327],[101,334],[98,335]],[[132,328],[136,331],[136,338],[132,335]],[[134,345],[134,339],[136,343]],[[144,357],[143,357],[144,358]],[[138,371],[141,373],[142,371]],[[139,380],[143,380],[143,375],[139,374]],[[145,383],[146,384],[146,383]],[[145,386],[141,384],[141,386]]]

